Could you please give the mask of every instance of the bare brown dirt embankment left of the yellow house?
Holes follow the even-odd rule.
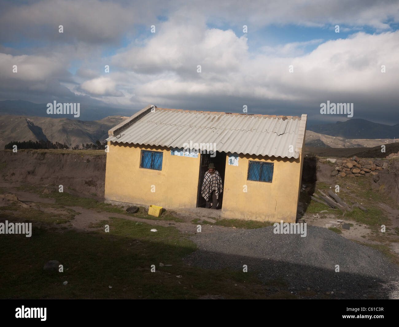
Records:
[[[76,190],[104,197],[105,155],[0,151],[1,174],[6,182],[28,182]]]

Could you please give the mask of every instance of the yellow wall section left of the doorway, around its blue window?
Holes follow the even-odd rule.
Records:
[[[172,156],[166,147],[111,142],[108,147],[105,200],[166,208],[196,207],[199,156]],[[141,149],[162,151],[162,170],[140,168]],[[152,185],[155,192],[151,192]]]

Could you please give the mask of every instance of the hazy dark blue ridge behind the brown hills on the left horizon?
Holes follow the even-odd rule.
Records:
[[[115,109],[110,107],[94,107],[81,103],[79,117],[75,118],[73,117],[73,115],[53,115],[52,117],[50,117],[50,115],[47,114],[47,103],[33,103],[22,100],[0,101],[0,115],[24,115],[34,117],[69,118],[71,120],[93,121],[116,115],[130,117],[133,114],[133,110]]]

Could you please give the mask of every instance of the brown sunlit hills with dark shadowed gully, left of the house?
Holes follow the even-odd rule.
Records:
[[[125,117],[124,117],[125,118]],[[101,143],[108,137],[108,130],[124,118],[109,116],[97,121],[71,120],[68,118],[43,118],[4,115],[0,116],[0,149],[12,141],[51,141],[69,147],[82,143]]]

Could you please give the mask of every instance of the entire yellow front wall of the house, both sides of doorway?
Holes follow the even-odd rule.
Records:
[[[105,200],[169,209],[196,207],[200,155],[172,156],[166,147],[111,142],[108,146]],[[162,170],[140,168],[141,149],[163,151]],[[302,159],[302,153],[298,159],[240,155],[239,165],[232,166],[226,156],[222,217],[295,222]],[[249,160],[274,163],[273,181],[247,180]]]

